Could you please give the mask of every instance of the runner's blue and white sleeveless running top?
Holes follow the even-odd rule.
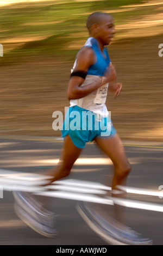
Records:
[[[97,81],[101,76],[104,75],[104,72],[110,63],[110,58],[108,54],[108,48],[105,47],[102,52],[99,47],[99,43],[95,38],[88,38],[83,47],[91,47],[92,50],[95,52],[96,57],[96,63],[90,66],[90,68],[87,70],[87,76],[83,84],[81,85],[87,86],[87,84]],[[73,70],[75,69],[76,64],[77,59],[74,62],[71,72],[73,72]],[[99,87],[98,89],[96,89],[89,95],[82,97],[81,99],[70,100],[70,106],[79,106],[80,108],[90,110],[98,115],[100,114],[102,117],[107,117],[108,110],[105,105],[107,93],[108,83],[103,84],[102,87]]]

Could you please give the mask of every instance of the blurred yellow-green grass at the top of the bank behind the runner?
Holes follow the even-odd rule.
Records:
[[[21,3],[0,10],[1,41],[4,41],[5,58],[38,56],[53,54],[55,57],[64,54],[67,60],[72,59],[74,51],[67,48],[73,41],[84,41],[87,38],[85,22],[93,11],[112,11],[121,9],[121,5],[139,4],[141,0],[106,0],[75,2],[59,1],[39,3]],[[14,7],[14,8],[13,8]],[[135,17],[150,13],[150,8],[136,9],[114,13],[115,23],[128,23]],[[76,36],[78,32],[83,35]],[[30,40],[31,38],[31,40]],[[38,38],[38,39],[37,39]],[[11,50],[8,46],[11,45]],[[5,47],[6,46],[6,47]],[[9,47],[10,49],[10,47]]]

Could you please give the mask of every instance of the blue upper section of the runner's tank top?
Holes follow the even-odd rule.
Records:
[[[101,49],[99,48],[97,39],[92,37],[87,39],[83,47],[91,47],[92,50],[95,52],[97,59],[96,63],[90,66],[90,68],[87,70],[87,75],[103,76],[105,69],[108,67],[110,63],[108,48],[104,47],[102,53]]]

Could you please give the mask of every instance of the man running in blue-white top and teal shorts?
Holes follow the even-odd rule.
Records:
[[[95,141],[113,163],[112,196],[120,197],[122,192],[118,189],[118,185],[126,185],[131,166],[121,139],[111,123],[108,109],[105,105],[108,92],[113,93],[116,97],[122,90],[122,84],[116,81],[116,70],[110,61],[107,48],[115,34],[114,19],[106,13],[92,13],[88,17],[86,25],[90,37],[87,39],[84,47],[78,52],[71,72],[67,89],[70,108],[68,109],[62,130],[64,145],[57,167],[47,173],[47,175],[52,176],[48,184],[68,176],[86,142]],[[82,122],[84,112],[89,112],[86,119],[87,123],[85,124]],[[73,120],[74,113],[79,114],[79,124],[81,126],[76,127],[77,129],[71,129],[71,127],[66,129]],[[94,122],[92,129],[89,129],[89,119],[92,119],[92,117]],[[21,193],[15,193],[15,199],[17,203],[16,210],[20,206],[20,202],[22,203],[21,208],[17,210],[18,216],[26,220],[26,223],[36,231],[39,231],[39,233],[46,234],[49,237],[53,236],[55,228],[51,225],[52,217],[49,218],[48,224],[48,221],[45,221],[51,216],[49,212],[46,212],[46,210],[35,210],[35,203],[33,203],[33,199],[30,199],[28,195],[22,196]],[[36,218],[33,221],[34,224],[32,224],[27,213],[22,212],[22,208],[25,208],[23,204],[29,204],[30,209],[33,209],[37,215],[42,216],[39,220],[41,219],[43,224],[41,222],[38,224]],[[117,210],[116,207],[115,209]],[[89,220],[93,230],[97,231],[108,242],[112,241],[112,243],[115,243],[117,241],[117,244],[133,245],[148,245],[152,243],[149,239],[142,239],[139,234],[131,231],[126,226],[120,223],[116,224],[117,221],[121,222],[122,212],[117,211],[118,215],[115,216],[115,220],[110,219],[110,223],[108,218],[104,217],[104,214],[101,215],[102,209],[97,207],[97,205],[93,207],[91,204],[81,203],[78,205],[78,211],[85,220]],[[44,225],[43,231],[41,231],[41,225]]]

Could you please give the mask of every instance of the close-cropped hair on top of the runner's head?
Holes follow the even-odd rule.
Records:
[[[93,24],[99,25],[106,17],[112,17],[112,16],[108,13],[100,13],[100,12],[90,14],[86,21],[86,27],[89,30],[89,32],[91,31],[91,27]]]

